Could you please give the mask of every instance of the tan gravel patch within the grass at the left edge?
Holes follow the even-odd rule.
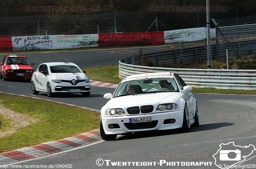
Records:
[[[3,105],[0,105],[0,114],[4,116],[4,118],[11,119],[12,121],[12,128],[7,131],[0,131],[0,138],[6,137],[11,135],[12,133],[15,133],[16,130],[20,127],[26,127],[29,124],[35,123],[36,121],[33,120],[31,117],[15,113],[11,109],[6,109]]]

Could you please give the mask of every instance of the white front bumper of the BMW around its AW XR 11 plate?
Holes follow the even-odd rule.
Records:
[[[101,116],[103,129],[106,134],[124,134],[129,132],[140,132],[149,130],[168,130],[181,128],[183,124],[183,110],[153,113],[134,116]],[[151,116],[151,122],[130,123],[129,118],[139,118]],[[175,123],[165,124],[165,120],[175,119]],[[109,124],[115,127],[110,129]]]

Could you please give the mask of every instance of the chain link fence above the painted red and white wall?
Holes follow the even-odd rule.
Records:
[[[214,7],[210,16],[218,21],[219,26],[253,24],[256,23],[255,5],[256,1],[250,0],[239,5]],[[182,7],[189,9],[189,6],[175,6],[175,9],[181,9],[180,12],[156,11],[158,7],[152,6],[155,10],[153,12],[150,10],[117,11],[83,15],[0,17],[0,37],[153,32],[206,27],[205,9],[199,9],[199,6],[196,6],[193,12],[182,12]],[[168,7],[173,6],[165,6],[163,9],[166,10]],[[255,16],[238,18],[248,15]],[[212,22],[211,27],[215,27]]]

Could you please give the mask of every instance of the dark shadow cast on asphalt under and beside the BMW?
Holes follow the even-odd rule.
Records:
[[[198,127],[194,127],[191,125],[191,128],[188,133],[198,132],[198,131],[206,131],[206,130],[214,130],[221,127],[231,126],[234,123],[211,123],[211,124],[202,124]],[[147,137],[157,137],[157,136],[166,136],[166,135],[174,135],[183,133],[180,129],[171,129],[171,130],[157,130],[157,131],[145,131],[139,133],[127,134],[122,137],[117,138],[116,140],[130,140],[137,138],[147,138]]]

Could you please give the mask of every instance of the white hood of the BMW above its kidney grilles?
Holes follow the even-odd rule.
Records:
[[[123,108],[143,105],[157,106],[164,103],[174,103],[179,92],[148,93],[139,95],[127,95],[112,98],[108,101],[108,109]]]

